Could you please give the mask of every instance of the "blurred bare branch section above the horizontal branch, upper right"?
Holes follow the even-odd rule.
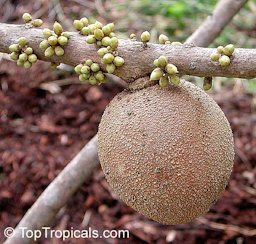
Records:
[[[207,47],[221,33],[247,0],[220,0],[213,14],[187,39],[199,47]]]

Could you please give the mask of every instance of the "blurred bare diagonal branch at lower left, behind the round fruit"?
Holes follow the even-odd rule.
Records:
[[[26,236],[22,238],[21,228],[40,230],[51,224],[58,211],[83,182],[90,178],[98,164],[96,135],[46,188],[17,225],[14,236],[7,239],[5,244],[31,243],[33,240]]]

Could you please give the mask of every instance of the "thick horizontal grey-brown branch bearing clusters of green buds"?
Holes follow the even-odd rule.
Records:
[[[0,52],[9,52],[8,46],[21,36],[29,40],[29,45],[41,60],[76,65],[90,58],[100,63],[96,46],[87,44],[86,37],[74,32],[71,33],[63,57],[46,58],[39,49],[39,43],[43,40],[42,29],[29,28],[26,25],[0,24]],[[120,40],[117,51],[124,58],[125,65],[118,68],[115,74],[126,82],[149,75],[154,69],[153,61],[160,55],[168,57],[181,74],[201,77],[256,77],[256,49],[237,48],[231,65],[225,68],[211,61],[210,55],[214,51],[211,48],[152,43],[144,47],[141,42]],[[104,70],[104,66],[102,68]]]

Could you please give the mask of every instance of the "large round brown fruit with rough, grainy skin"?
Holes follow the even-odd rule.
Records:
[[[181,80],[118,94],[99,125],[104,174],[120,198],[163,224],[205,214],[233,167],[230,125],[204,91]]]

